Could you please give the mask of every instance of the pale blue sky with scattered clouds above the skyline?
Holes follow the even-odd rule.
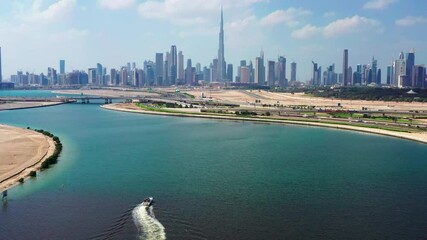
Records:
[[[378,59],[383,71],[401,51],[427,64],[425,0],[0,0],[3,79],[16,71],[142,67],[176,45],[185,62],[209,66],[218,53],[224,9],[225,59],[285,56],[297,79],[311,78],[311,61],[342,71]],[[234,73],[236,75],[236,72]]]

